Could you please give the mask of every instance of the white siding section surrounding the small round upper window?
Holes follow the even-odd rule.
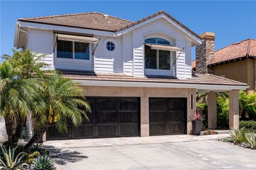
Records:
[[[99,39],[98,46],[94,52],[95,72],[123,73],[123,39],[114,37],[115,50],[109,52],[106,49],[106,39],[110,37],[95,36]]]

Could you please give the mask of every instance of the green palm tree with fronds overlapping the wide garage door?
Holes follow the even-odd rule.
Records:
[[[75,126],[82,123],[83,117],[88,120],[86,113],[80,107],[90,112],[90,104],[85,101],[83,89],[71,79],[61,77],[60,74],[49,75],[45,79],[43,100],[39,99],[33,106],[34,136],[25,148],[36,142],[51,124],[56,124],[57,131],[68,131],[68,119]]]

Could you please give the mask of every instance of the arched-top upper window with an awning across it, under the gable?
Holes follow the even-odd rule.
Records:
[[[170,41],[162,38],[148,38],[145,43],[171,45]],[[145,69],[171,70],[171,52],[151,49],[150,46],[145,45]]]

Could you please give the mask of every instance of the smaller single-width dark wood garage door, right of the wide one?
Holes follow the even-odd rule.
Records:
[[[149,98],[149,135],[186,133],[186,98]]]

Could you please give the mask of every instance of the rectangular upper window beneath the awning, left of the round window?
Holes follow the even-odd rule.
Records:
[[[90,44],[57,40],[57,58],[90,60]]]

